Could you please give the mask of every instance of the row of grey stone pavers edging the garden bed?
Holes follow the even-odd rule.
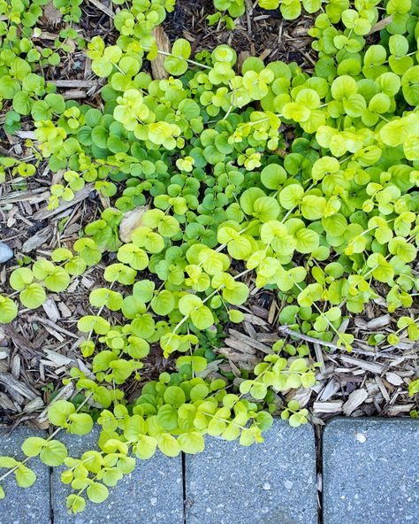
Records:
[[[0,429],[0,455],[19,454],[33,432],[10,438]],[[3,436],[2,436],[3,435]],[[102,505],[80,515],[65,509],[68,486],[59,471],[34,460],[38,481],[17,489],[11,477],[0,501],[0,524],[403,524],[419,514],[419,421],[337,419],[323,436],[323,501],[317,511],[313,429],[281,420],[262,445],[209,439],[202,454],[163,455],[138,464],[110,489]],[[91,449],[95,435],[64,435],[74,456]]]

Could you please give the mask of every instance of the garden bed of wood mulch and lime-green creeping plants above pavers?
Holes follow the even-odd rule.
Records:
[[[0,424],[125,420],[127,461],[416,418],[417,6],[34,4],[1,15]]]

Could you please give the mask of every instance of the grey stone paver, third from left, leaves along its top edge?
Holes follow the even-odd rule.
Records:
[[[276,420],[264,435],[248,448],[209,438],[187,455],[187,524],[316,524],[313,429]]]

